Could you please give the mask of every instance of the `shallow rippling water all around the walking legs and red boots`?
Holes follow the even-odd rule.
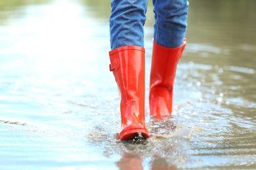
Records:
[[[149,118],[146,101],[137,144],[116,140],[109,1],[1,1],[0,169],[255,169],[255,7],[190,1],[173,116]]]

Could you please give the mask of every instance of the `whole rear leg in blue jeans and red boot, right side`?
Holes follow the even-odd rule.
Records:
[[[170,115],[177,63],[186,46],[187,0],[153,0],[154,44],[150,72],[150,116]]]

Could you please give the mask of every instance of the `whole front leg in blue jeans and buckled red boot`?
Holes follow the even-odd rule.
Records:
[[[145,126],[146,0],[113,0],[110,16],[110,71],[121,95],[118,139],[148,138]]]

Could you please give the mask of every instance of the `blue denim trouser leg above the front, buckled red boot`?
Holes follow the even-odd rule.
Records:
[[[111,50],[120,46],[144,47],[147,0],[112,0]]]

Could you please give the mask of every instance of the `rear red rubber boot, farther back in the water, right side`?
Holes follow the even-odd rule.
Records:
[[[150,116],[161,119],[171,114],[177,63],[185,46],[186,39],[177,48],[166,48],[154,42],[150,72]]]

